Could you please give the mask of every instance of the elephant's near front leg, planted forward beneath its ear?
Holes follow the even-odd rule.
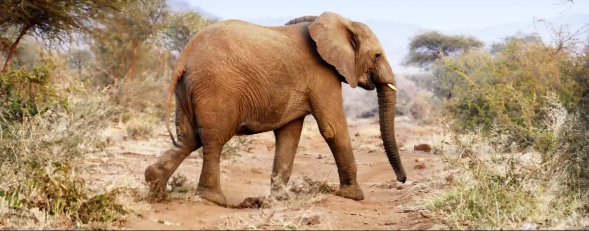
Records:
[[[337,196],[363,200],[364,193],[356,180],[356,160],[352,151],[352,142],[348,131],[348,121],[343,111],[341,94],[330,95],[339,100],[316,100],[313,102],[313,116],[325,141],[332,151],[339,174],[339,191]]]

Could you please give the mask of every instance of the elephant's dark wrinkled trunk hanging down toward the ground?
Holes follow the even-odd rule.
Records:
[[[395,170],[397,180],[405,183],[407,175],[401,157],[399,157],[399,149],[395,137],[395,104],[397,101],[397,93],[386,84],[377,84],[376,93],[378,93],[378,107],[380,120],[380,134],[382,142],[385,146],[386,157],[389,163]]]

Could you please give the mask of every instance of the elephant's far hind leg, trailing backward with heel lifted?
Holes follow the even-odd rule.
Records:
[[[145,169],[145,181],[156,196],[166,196],[170,176],[190,153],[201,147],[200,139],[188,121],[186,111],[179,107],[176,108],[176,131],[180,147],[167,150],[156,163]]]

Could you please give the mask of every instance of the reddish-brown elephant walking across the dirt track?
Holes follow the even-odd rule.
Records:
[[[405,183],[395,140],[395,74],[365,24],[334,12],[267,27],[226,19],[203,28],[178,58],[167,95],[166,128],[174,147],[145,169],[152,193],[166,185],[186,157],[203,147],[197,193],[227,205],[220,185],[220,153],[233,136],[273,131],[276,150],[270,194],[286,193],[305,117],[315,117],[339,174],[336,196],[365,199],[343,110],[342,82],[375,90],[383,147]],[[170,130],[176,96],[177,141]]]

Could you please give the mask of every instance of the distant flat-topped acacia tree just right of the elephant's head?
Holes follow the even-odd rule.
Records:
[[[437,31],[423,32],[411,39],[404,65],[427,68],[441,58],[441,55],[454,55],[483,45],[484,43],[475,37],[444,35]]]

